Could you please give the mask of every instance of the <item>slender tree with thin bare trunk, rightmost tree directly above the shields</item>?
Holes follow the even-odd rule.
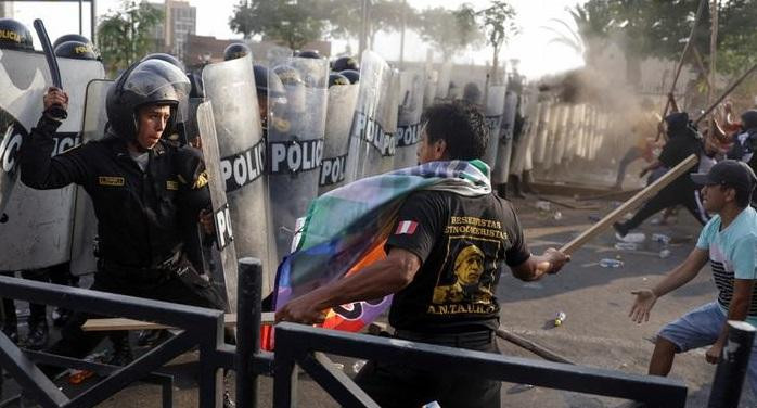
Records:
[[[462,20],[477,21],[484,30],[492,51],[491,78],[497,81],[499,54],[502,47],[511,36],[519,30],[514,21],[515,10],[503,0],[492,0],[488,8],[478,11],[475,11],[470,4],[463,4],[458,11],[458,15]]]

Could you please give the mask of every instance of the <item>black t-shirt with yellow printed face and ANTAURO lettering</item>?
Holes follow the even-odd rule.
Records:
[[[422,262],[410,285],[394,295],[389,311],[395,329],[416,332],[497,329],[502,262],[512,267],[530,256],[509,202],[447,191],[408,197],[386,243],[387,252],[393,247]]]

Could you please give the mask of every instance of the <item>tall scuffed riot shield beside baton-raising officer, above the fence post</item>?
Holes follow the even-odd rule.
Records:
[[[265,174],[266,144],[255,91],[253,60],[242,59],[203,68],[205,98],[211,102],[219,168],[229,204],[234,250],[264,265],[264,296],[273,289],[278,259],[273,255]]]

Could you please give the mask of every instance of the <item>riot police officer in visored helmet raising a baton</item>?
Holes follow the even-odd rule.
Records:
[[[50,88],[43,115],[20,152],[21,178],[35,189],[77,183],[92,199],[100,252],[92,290],[223,309],[222,294],[195,271],[183,242],[182,230],[196,228],[200,218],[210,232],[202,156],[162,138],[178,122],[189,91],[176,66],[139,62],[108,91],[105,137],[51,158],[51,136],[61,125],[51,107],[65,109],[68,98]],[[51,352],[81,358],[97,346],[104,334],[82,332],[87,318],[75,314]],[[114,343],[112,362],[128,362],[128,343]]]

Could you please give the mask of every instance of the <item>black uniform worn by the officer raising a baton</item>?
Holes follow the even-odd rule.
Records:
[[[163,62],[147,64],[165,69]],[[176,75],[189,82],[183,73]],[[144,153],[146,166],[141,168],[127,150],[128,139],[108,131],[100,141],[50,157],[59,126],[43,115],[24,140],[21,179],[35,189],[77,183],[92,199],[99,264],[90,289],[223,309],[221,292],[197,273],[184,253],[187,231],[196,231],[198,214],[210,203],[201,154],[159,140]],[[76,314],[51,352],[74,357],[89,353],[103,334],[84,333],[80,326],[87,318]]]

